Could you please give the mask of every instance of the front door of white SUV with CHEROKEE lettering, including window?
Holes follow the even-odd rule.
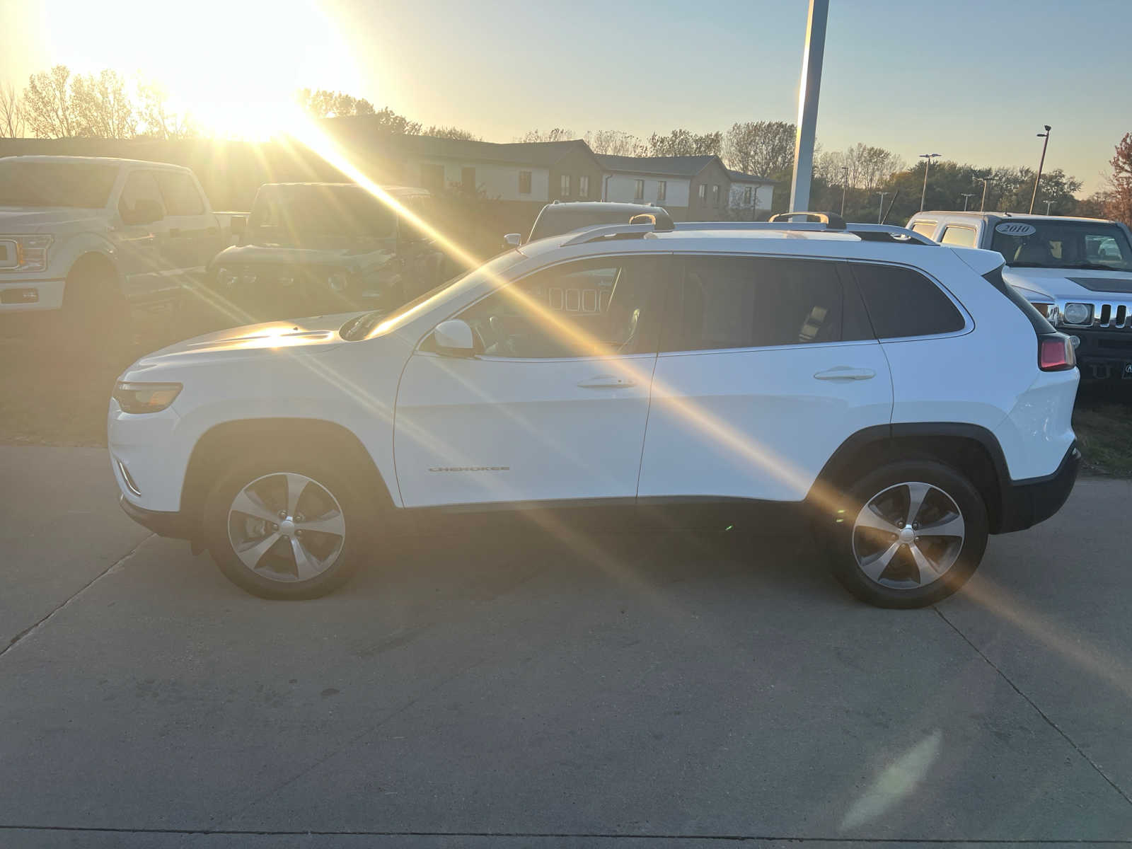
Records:
[[[479,354],[441,355],[426,337],[397,392],[404,505],[632,500],[668,267],[560,264],[456,316]]]

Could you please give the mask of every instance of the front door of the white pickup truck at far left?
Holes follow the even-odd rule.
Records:
[[[163,216],[157,221],[137,222],[138,203],[157,204],[164,213],[164,201],[153,171],[132,171],[127,175],[118,199],[118,222],[114,242],[119,251],[122,290],[130,301],[158,298],[170,286],[165,272],[169,223]]]

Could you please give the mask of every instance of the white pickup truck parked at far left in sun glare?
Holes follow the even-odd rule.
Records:
[[[194,173],[88,156],[0,158],[0,320],[69,332],[174,303],[229,241]]]

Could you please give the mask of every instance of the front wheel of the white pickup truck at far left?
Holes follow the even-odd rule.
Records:
[[[134,344],[129,306],[110,266],[79,260],[71,268],[59,337],[60,348],[84,355],[117,357]]]

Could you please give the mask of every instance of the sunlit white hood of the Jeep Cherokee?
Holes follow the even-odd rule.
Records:
[[[294,357],[323,353],[348,344],[338,328],[357,312],[334,316],[312,316],[290,321],[267,321],[232,327],[217,333],[178,342],[146,354],[127,369],[132,379],[145,379],[138,371],[168,366],[198,366],[208,362],[228,362],[249,357]]]

